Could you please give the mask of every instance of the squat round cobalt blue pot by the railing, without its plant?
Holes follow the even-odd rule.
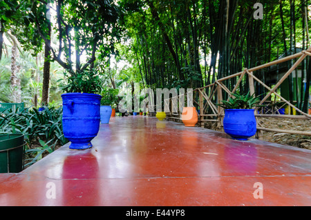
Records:
[[[223,129],[233,139],[246,141],[256,134],[254,109],[225,109]]]

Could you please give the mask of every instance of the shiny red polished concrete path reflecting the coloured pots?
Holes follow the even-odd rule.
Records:
[[[311,206],[310,150],[142,116],[111,119],[92,143],[0,174],[0,206]]]

